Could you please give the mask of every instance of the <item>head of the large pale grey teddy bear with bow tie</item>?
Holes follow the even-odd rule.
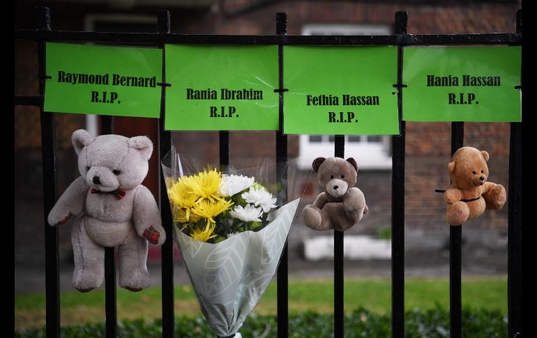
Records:
[[[71,139],[78,155],[80,175],[93,189],[102,192],[133,189],[147,175],[153,143],[145,136],[93,137],[80,129],[73,132]]]

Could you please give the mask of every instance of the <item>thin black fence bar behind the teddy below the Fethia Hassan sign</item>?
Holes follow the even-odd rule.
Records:
[[[345,135],[334,135],[334,156],[345,157]],[[343,312],[343,231],[334,230],[334,337],[343,337],[345,315]]]

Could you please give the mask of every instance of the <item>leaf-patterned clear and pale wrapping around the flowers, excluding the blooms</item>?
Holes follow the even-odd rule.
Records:
[[[236,233],[219,243],[205,243],[181,231],[182,223],[174,223],[175,237],[199,306],[218,337],[241,337],[239,329],[278,269],[301,201],[298,198],[289,203],[281,202],[287,200],[288,190],[294,191],[296,166],[293,161],[271,164],[267,158],[252,158],[250,162],[252,167],[248,169],[228,167],[222,171],[252,176],[264,187],[271,187],[271,193],[278,197],[278,207],[269,212],[269,224],[263,229]],[[179,177],[211,167],[218,168],[179,155],[174,148],[162,160],[167,188]]]

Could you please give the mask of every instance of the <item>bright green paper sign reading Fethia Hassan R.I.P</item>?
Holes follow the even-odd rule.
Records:
[[[396,47],[284,47],[284,132],[398,135]]]

